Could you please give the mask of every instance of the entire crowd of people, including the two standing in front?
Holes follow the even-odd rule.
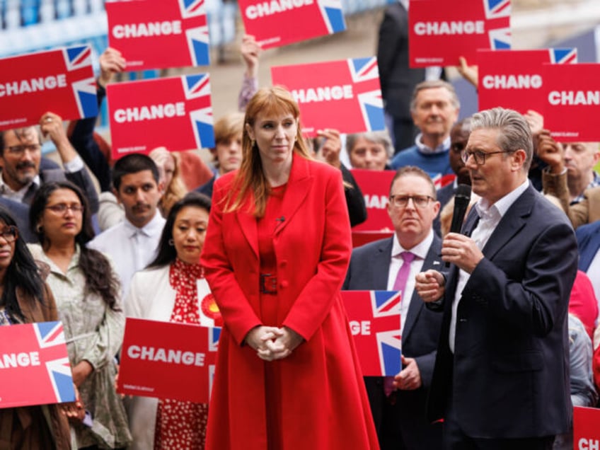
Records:
[[[572,406],[600,388],[600,144],[556,142],[535,111],[458,120],[444,71],[408,69],[405,9],[380,30],[396,46],[378,55],[388,131],[305,139],[292,95],[258,88],[252,36],[211,166],[166,143],[112,161],[93,118],[65,127],[51,111],[0,131],[0,324],[62,321],[76,391],[0,410],[0,442],[572,448]],[[117,50],[100,56],[98,103],[124,69]],[[393,235],[354,250],[367,208],[352,168],[395,171]],[[437,189],[439,175],[454,181]],[[125,319],[200,324],[204,280],[224,323],[210,404],[120,396]],[[342,289],[402,292],[398,374],[362,376]]]

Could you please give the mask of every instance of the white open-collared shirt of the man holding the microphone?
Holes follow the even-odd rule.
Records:
[[[500,200],[490,206],[490,202],[481,198],[475,203],[475,210],[479,216],[479,223],[477,227],[471,233],[471,238],[477,244],[481,250],[485,247],[485,244],[490,240],[490,236],[496,229],[496,226],[500,223],[504,214],[512,206],[512,204],[521,196],[523,192],[529,187],[529,178],[524,181],[523,184],[519,185],[518,188],[512,190],[507,195],[504,195]],[[468,282],[471,274],[468,274],[464,270],[458,272],[458,282],[456,284],[456,291],[454,292],[454,300],[452,301],[452,316],[450,319],[450,333],[449,333],[449,346],[450,350],[454,353],[454,337],[456,336],[456,311],[458,310],[458,302],[461,301],[463,295],[463,289]]]

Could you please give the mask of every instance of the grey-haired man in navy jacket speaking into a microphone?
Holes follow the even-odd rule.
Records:
[[[428,403],[444,417],[444,449],[551,449],[569,429],[567,306],[577,241],[565,214],[529,182],[524,117],[477,113],[463,161],[481,200],[449,233],[447,277],[429,270],[415,289],[443,308]]]

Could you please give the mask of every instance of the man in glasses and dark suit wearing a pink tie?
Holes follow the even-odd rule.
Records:
[[[413,292],[418,272],[442,267],[442,243],[432,230],[438,212],[429,175],[416,167],[400,169],[392,180],[388,204],[396,233],[354,249],[344,283],[344,289],[403,292],[403,370],[395,377],[397,391],[387,396],[383,377],[365,377],[382,450],[438,450],[442,444],[442,425],[430,425],[425,417],[442,317],[425,308]],[[403,253],[411,253],[412,261],[403,262]],[[410,271],[401,289],[396,279],[404,265]]]

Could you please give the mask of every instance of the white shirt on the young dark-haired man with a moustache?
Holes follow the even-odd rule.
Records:
[[[89,248],[108,253],[113,258],[121,280],[123,298],[129,290],[129,282],[134,273],[144,269],[156,258],[164,225],[165,219],[157,209],[152,220],[143,228],[137,228],[125,219],[88,243]]]

